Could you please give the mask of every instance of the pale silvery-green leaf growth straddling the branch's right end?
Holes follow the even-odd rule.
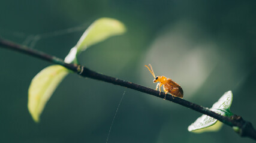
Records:
[[[222,116],[231,116],[230,106],[232,104],[233,94],[231,91],[225,92],[215,104],[212,105],[210,110]],[[222,123],[213,117],[203,114],[194,123],[188,126],[189,132],[202,133],[209,131],[218,131],[221,129]]]

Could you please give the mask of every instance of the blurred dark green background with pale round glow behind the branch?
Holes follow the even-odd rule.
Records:
[[[231,111],[256,126],[255,1],[0,2],[0,36],[64,58],[100,17],[127,33],[83,52],[89,69],[155,88],[144,67],[179,83],[184,99],[211,107],[233,91]],[[0,48],[0,142],[253,142],[228,126],[195,134],[200,113],[121,86],[70,74],[35,123],[27,109],[31,79],[50,63]]]

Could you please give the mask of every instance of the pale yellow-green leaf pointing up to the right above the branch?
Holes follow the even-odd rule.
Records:
[[[118,20],[113,18],[100,18],[89,26],[77,42],[77,52],[84,51],[95,43],[104,41],[105,39],[121,35],[125,32],[125,26]]]

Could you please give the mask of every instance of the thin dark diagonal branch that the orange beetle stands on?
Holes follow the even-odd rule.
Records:
[[[2,46],[2,48],[13,49],[14,51],[19,51],[24,54],[31,55],[32,57],[41,58],[42,60],[50,61],[51,63],[54,63],[54,64],[59,64],[61,66],[66,67],[69,70],[74,71],[75,73],[79,74],[82,77],[89,77],[92,79],[97,79],[97,80],[101,80],[104,82],[113,83],[114,85],[124,86],[127,88],[134,89],[136,91],[140,91],[140,92],[143,92],[146,94],[153,95],[155,97],[162,98],[162,99],[164,99],[164,97],[165,97],[164,92],[161,92],[161,94],[159,95],[159,91],[156,91],[154,89],[146,88],[144,86],[137,85],[132,82],[127,82],[125,80],[121,80],[121,79],[118,79],[115,77],[106,76],[104,74],[92,71],[92,70],[90,70],[86,67],[83,67],[81,65],[65,63],[61,58],[54,57],[52,55],[46,54],[41,51],[37,51],[35,49],[30,49],[26,46],[19,45],[17,43],[11,42],[11,41],[7,41],[5,39],[0,39],[0,46]],[[192,102],[183,100],[178,97],[172,97],[171,95],[168,95],[168,94],[166,96],[166,100],[175,102],[184,107],[191,108],[192,110],[195,110],[202,114],[206,114],[210,117],[213,117],[213,118],[219,120],[220,122],[233,127],[233,129],[240,136],[249,137],[256,141],[256,130],[253,128],[253,126],[250,122],[243,120],[242,117],[240,117],[240,116],[236,116],[236,115],[231,116],[231,117],[221,116],[220,114],[217,114],[217,113],[209,110],[206,107],[202,107],[201,105],[194,104]]]

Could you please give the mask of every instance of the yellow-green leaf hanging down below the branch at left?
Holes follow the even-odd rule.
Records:
[[[53,65],[44,68],[32,79],[28,89],[28,110],[35,122],[39,122],[44,106],[68,73],[70,71],[65,67]]]

